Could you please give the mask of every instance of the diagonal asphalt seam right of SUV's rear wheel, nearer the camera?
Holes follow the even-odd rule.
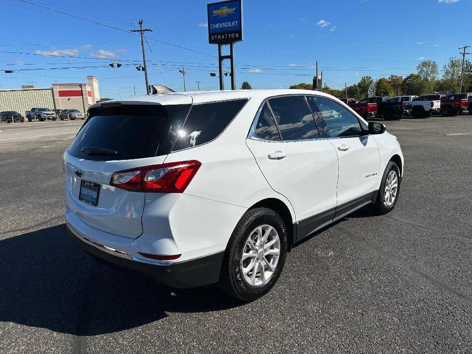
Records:
[[[368,240],[354,234],[353,232],[351,232],[349,230],[344,229],[344,227],[342,227],[342,226],[336,225],[336,226],[333,226],[333,229],[342,232],[344,235],[349,237],[351,240],[361,244],[362,246],[364,246],[368,249],[376,251],[378,254],[385,257],[390,262],[394,262],[394,263],[399,264],[400,266],[402,266],[404,268],[407,268],[408,270],[410,270],[410,271],[414,272],[415,274],[419,275],[420,277],[427,280],[428,282],[430,282],[434,286],[446,291],[447,293],[449,293],[451,295],[457,296],[457,297],[463,299],[464,301],[466,301],[468,304],[472,305],[472,298],[470,298],[467,295],[462,294],[461,292],[459,292],[456,289],[450,287],[449,285],[446,285],[446,284],[440,282],[439,280],[437,280],[432,275],[430,275],[428,273],[425,273],[424,271],[422,271],[418,267],[410,264],[406,260],[401,259],[400,257],[393,256],[390,252],[386,251],[385,249],[383,249],[379,246],[376,246],[375,244],[373,244],[373,243],[369,242]]]

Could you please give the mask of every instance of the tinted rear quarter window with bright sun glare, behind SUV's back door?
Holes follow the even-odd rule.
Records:
[[[172,151],[205,144],[228,127],[247,99],[193,105]]]

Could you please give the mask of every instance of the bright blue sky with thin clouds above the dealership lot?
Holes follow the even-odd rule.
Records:
[[[187,90],[196,90],[196,81],[201,89],[218,89],[218,79],[209,74],[217,71],[217,45],[208,44],[208,2],[0,0],[0,89],[85,82],[95,75],[102,97],[144,93],[143,73],[135,68],[142,57],[139,37],[120,31],[137,28],[139,18],[154,31],[147,33],[150,83],[183,90],[178,66],[185,65]],[[471,14],[470,0],[243,0],[236,83],[279,88],[311,82],[316,60],[332,88],[356,83],[364,74],[405,76],[423,58],[441,68],[458,56],[459,45],[472,44]],[[113,60],[123,66],[109,67]],[[80,66],[89,68],[24,70]],[[229,77],[225,85],[230,87]]]

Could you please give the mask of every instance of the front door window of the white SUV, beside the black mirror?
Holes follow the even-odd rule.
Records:
[[[362,130],[354,114],[331,99],[314,97],[314,100],[332,138],[359,136]]]

